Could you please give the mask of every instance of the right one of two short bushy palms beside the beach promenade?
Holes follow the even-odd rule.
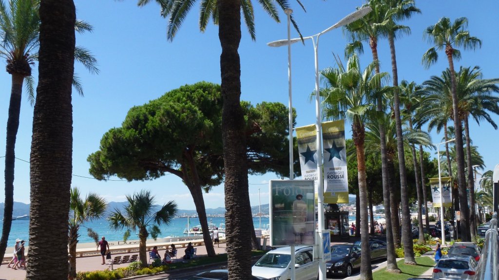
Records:
[[[147,266],[146,239],[149,235],[156,240],[161,233],[159,226],[168,225],[177,214],[177,204],[173,201],[164,204],[157,212],[154,204],[155,197],[150,191],[142,190],[134,195],[127,195],[128,205],[123,209],[114,209],[107,218],[109,226],[114,230],[127,229],[123,237],[127,240],[130,232],[137,232],[139,236],[139,260],[142,266]]]

